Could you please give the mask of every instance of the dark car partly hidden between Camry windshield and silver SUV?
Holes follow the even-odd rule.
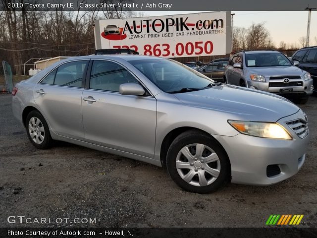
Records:
[[[197,69],[198,72],[206,75],[212,80],[223,82],[223,72],[228,61],[215,61]]]

